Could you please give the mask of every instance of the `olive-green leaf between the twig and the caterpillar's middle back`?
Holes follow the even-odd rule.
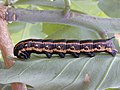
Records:
[[[49,28],[49,29],[48,29]],[[97,32],[92,32],[89,28],[72,27],[62,24],[43,24],[43,32],[48,35],[47,38],[51,39],[96,39],[100,38]],[[89,33],[88,33],[89,32]]]

